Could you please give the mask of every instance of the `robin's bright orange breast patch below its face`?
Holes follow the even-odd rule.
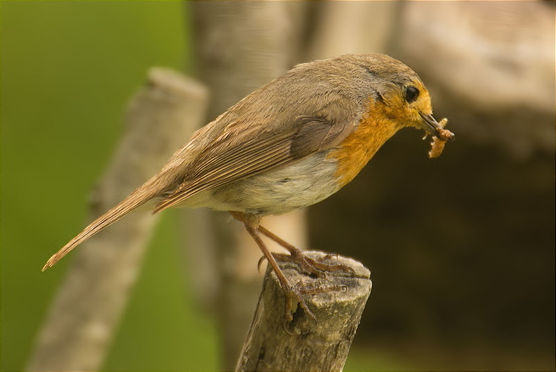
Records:
[[[339,149],[328,154],[338,162],[335,176],[341,187],[349,183],[365,167],[370,158],[401,126],[386,114],[383,103],[370,99],[369,110],[356,130],[340,144]]]

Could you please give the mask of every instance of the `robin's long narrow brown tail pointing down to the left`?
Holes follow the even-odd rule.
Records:
[[[123,201],[120,201],[120,203],[118,203],[114,208],[108,210],[108,212],[103,214],[101,217],[99,217],[89,226],[83,229],[83,231],[81,231],[79,235],[70,240],[70,242],[63,246],[60,251],[56,252],[52,257],[50,257],[47,264],[45,264],[42,268],[42,271],[56,264],[56,262],[58,262],[62,257],[72,251],[73,248],[85,242],[85,240],[92,237],[92,235],[95,235],[100,230],[106,228],[106,226],[124,217],[126,214],[139,207],[140,205],[146,203],[155,196],[161,194],[161,187],[156,187],[156,181],[156,176],[148,180],[147,183],[140,186],[134,192],[129,194],[129,196],[127,196]]]

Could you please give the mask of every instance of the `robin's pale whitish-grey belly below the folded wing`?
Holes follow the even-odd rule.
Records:
[[[181,206],[283,214],[318,203],[341,188],[336,162],[316,153],[294,164],[239,180],[186,199]]]

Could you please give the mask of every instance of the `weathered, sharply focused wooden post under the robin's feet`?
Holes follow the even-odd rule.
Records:
[[[320,262],[344,264],[354,273],[329,272],[327,278],[313,278],[297,264],[278,261],[291,284],[309,292],[302,297],[316,316],[315,321],[297,307],[293,321],[286,323],[284,291],[274,271],[267,269],[236,371],[343,369],[370,295],[370,271],[351,258],[320,251],[306,253]]]

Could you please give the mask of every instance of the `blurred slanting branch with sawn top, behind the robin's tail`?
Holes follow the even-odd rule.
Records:
[[[93,193],[90,215],[105,212],[161,169],[204,119],[207,100],[206,88],[196,81],[167,69],[151,69],[148,85],[131,99],[122,141]],[[148,210],[134,212],[76,250],[28,370],[99,369],[154,222]]]

